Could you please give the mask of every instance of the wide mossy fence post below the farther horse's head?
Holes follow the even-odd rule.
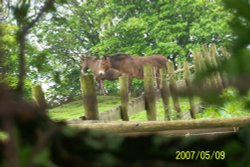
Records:
[[[80,83],[86,119],[98,120],[99,115],[93,75],[81,75]]]

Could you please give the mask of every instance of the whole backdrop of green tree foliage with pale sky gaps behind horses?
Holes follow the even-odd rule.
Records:
[[[189,58],[190,49],[201,43],[224,46],[232,37],[227,25],[232,16],[224,10],[221,0],[57,0],[55,3],[52,8],[56,7],[57,12],[41,18],[32,28],[35,38],[29,38],[26,46],[30,67],[27,79],[53,85],[47,91],[49,101],[65,97],[63,102],[79,95],[81,54],[159,53],[180,62]],[[34,17],[28,16],[35,10],[32,7],[29,1],[14,6],[17,21],[30,24]],[[17,56],[17,52],[11,56]],[[17,59],[13,62],[9,63],[11,70],[17,71]],[[106,86],[109,92],[117,91],[114,83],[107,82]],[[141,87],[135,81],[133,93],[138,94]]]

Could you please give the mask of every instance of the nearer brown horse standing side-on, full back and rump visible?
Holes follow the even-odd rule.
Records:
[[[107,70],[112,68],[127,74],[130,79],[143,79],[143,65],[150,64],[155,71],[157,88],[160,88],[159,71],[160,69],[166,69],[166,63],[168,61],[168,59],[162,55],[137,57],[121,53],[112,56],[104,56],[100,60],[99,75],[105,75]]]

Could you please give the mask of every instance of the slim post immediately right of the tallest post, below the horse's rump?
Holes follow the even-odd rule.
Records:
[[[160,76],[161,76],[161,98],[163,102],[164,108],[164,116],[165,120],[170,120],[170,112],[169,112],[169,85],[167,81],[167,70],[160,69]]]

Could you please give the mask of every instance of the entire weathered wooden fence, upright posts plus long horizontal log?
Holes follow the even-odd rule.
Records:
[[[228,52],[221,51],[221,57],[218,56],[215,45],[210,48],[203,46],[201,52],[193,52],[194,65],[184,62],[182,68],[174,70],[174,64],[168,62],[167,69],[160,70],[160,90],[154,87],[154,73],[150,65],[144,66],[144,94],[129,100],[128,76],[124,75],[119,78],[121,105],[106,112],[98,112],[98,102],[94,90],[93,76],[81,76],[81,89],[83,94],[84,115],[87,120],[93,121],[69,121],[69,124],[81,128],[105,129],[107,131],[118,133],[137,133],[148,131],[166,131],[166,130],[185,130],[199,128],[233,128],[249,124],[250,118],[236,118],[227,120],[193,120],[187,121],[156,121],[156,101],[162,99],[164,106],[164,118],[170,120],[170,100],[173,102],[173,109],[177,112],[178,119],[193,118],[198,111],[198,105],[195,104],[194,97],[188,95],[190,109],[187,112],[181,111],[179,97],[175,93],[178,89],[192,90],[192,74],[194,72],[204,71],[207,68],[217,67],[220,58],[228,58]],[[191,72],[192,70],[192,72]],[[215,72],[209,78],[199,85],[202,87],[215,86],[225,88],[226,79],[223,74]],[[40,90],[40,89],[39,89]],[[39,93],[36,93],[39,94]],[[34,95],[34,99],[39,99]],[[36,100],[39,103],[39,100]],[[146,111],[147,120],[150,122],[112,122],[116,120],[129,121],[129,117],[138,112]],[[184,114],[183,114],[184,113]],[[184,118],[183,118],[184,116]],[[104,121],[104,122],[103,122]],[[240,123],[239,123],[240,122]],[[90,124],[91,123],[91,124]],[[197,131],[197,130],[196,130]],[[199,130],[198,130],[199,131]],[[211,129],[209,130],[211,131]],[[232,130],[230,130],[232,131]],[[233,130],[235,131],[235,130]]]

